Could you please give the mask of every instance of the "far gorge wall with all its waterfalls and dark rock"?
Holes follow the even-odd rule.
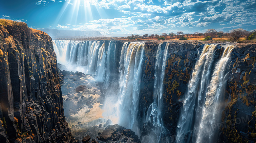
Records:
[[[141,142],[255,141],[255,44],[53,40],[53,46],[66,70],[95,75],[102,116]]]

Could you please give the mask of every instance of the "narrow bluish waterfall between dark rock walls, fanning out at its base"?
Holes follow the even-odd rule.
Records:
[[[155,62],[155,74],[154,74],[154,101],[149,106],[148,113],[145,119],[147,124],[153,126],[151,131],[146,137],[142,137],[143,142],[168,142],[165,140],[165,136],[169,134],[169,131],[163,125],[163,82],[166,69],[166,61],[168,55],[169,43],[166,43],[162,48],[162,43],[158,45],[156,62]]]

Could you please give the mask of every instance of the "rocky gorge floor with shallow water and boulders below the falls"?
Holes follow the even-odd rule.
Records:
[[[63,65],[58,66],[65,69]],[[62,79],[64,115],[79,142],[140,142],[133,131],[112,125],[111,116],[102,116],[103,97],[94,75],[58,70]]]

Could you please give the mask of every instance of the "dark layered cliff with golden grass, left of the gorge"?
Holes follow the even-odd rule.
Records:
[[[1,142],[76,142],[46,33],[25,23],[0,24],[0,95]]]

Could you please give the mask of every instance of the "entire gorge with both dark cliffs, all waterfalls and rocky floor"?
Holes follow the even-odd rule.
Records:
[[[255,44],[52,40],[7,21],[0,139],[252,143],[255,57]]]

